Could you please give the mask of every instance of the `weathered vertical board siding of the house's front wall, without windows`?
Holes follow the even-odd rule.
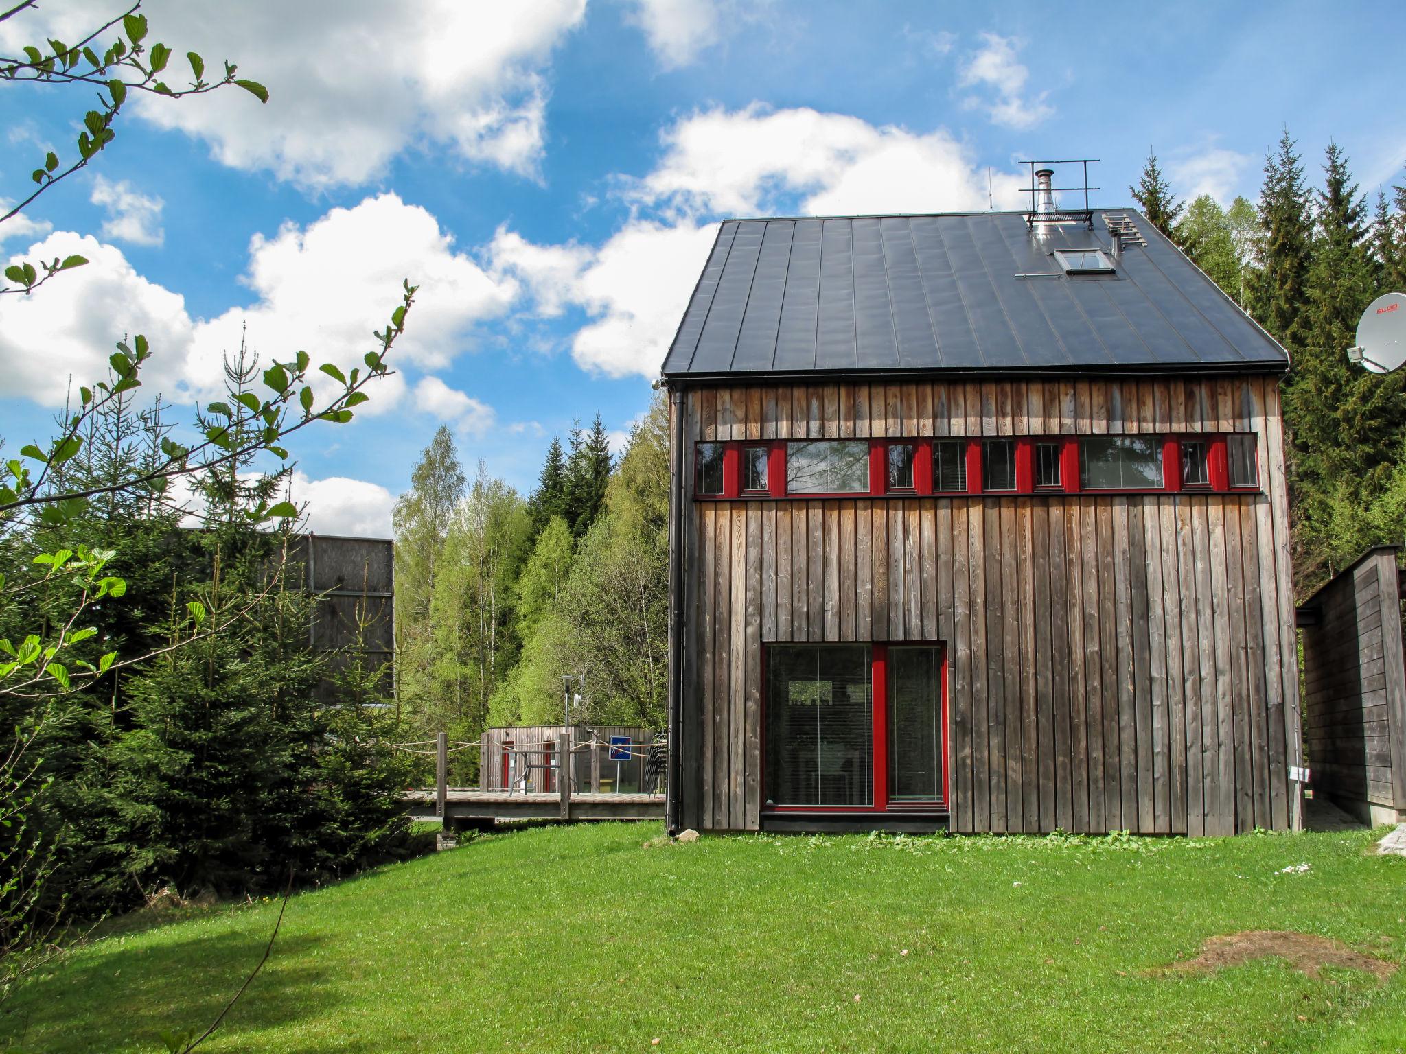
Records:
[[[763,645],[943,641],[953,831],[1298,825],[1274,379],[714,388],[683,402],[690,443],[1254,430],[1263,481],[1254,495],[688,502],[689,822],[759,825]],[[692,450],[681,464],[690,475]]]

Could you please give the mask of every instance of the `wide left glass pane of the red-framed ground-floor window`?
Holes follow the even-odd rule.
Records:
[[[766,655],[766,804],[872,805],[869,646],[776,644]]]

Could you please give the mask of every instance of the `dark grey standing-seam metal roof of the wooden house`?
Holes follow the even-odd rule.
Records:
[[[1052,253],[1111,252],[1064,277]],[[1035,277],[1057,273],[1057,277]],[[1133,209],[1032,235],[1024,212],[728,219],[664,361],[665,378],[852,372],[1282,371],[1288,357]]]

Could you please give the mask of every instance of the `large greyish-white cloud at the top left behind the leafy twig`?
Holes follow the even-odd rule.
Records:
[[[231,59],[270,91],[267,105],[239,89],[177,103],[143,96],[145,119],[208,141],[225,164],[326,187],[374,180],[395,155],[426,143],[533,176],[544,73],[585,0],[146,0],[142,11],[152,39],[177,56],[194,49],[217,76]],[[100,0],[44,6],[0,22],[0,45],[77,39],[108,17]],[[188,79],[184,58],[173,58],[172,86]]]

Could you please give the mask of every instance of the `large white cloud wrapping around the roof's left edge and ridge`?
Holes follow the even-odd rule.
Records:
[[[541,315],[567,305],[591,320],[572,358],[609,377],[658,375],[717,226],[763,211],[942,212],[987,207],[986,174],[946,131],[875,126],[814,110],[710,110],[665,129],[658,166],[626,184],[638,211],[596,249],[541,246],[501,229],[491,271],[517,278]],[[998,208],[1019,208],[1019,177],[993,180]]]

